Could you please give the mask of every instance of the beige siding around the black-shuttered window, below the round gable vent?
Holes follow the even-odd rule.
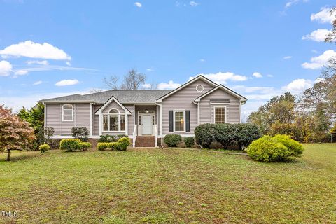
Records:
[[[204,90],[197,92],[197,85],[203,85]],[[169,111],[181,109],[190,111],[190,132],[179,132],[179,134],[194,134],[195,127],[197,127],[197,105],[193,103],[193,100],[200,97],[205,92],[212,90],[214,87],[203,80],[197,80],[195,83],[191,83],[183,89],[175,92],[171,96],[162,100],[162,127],[163,134],[172,134],[169,132]]]

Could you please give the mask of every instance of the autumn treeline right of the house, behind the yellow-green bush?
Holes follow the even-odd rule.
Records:
[[[325,74],[313,87],[294,96],[273,97],[248,116],[262,134],[288,134],[302,142],[330,142],[336,132],[336,76]],[[336,141],[336,136],[335,136]]]

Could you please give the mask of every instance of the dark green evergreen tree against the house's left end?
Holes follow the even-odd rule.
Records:
[[[21,120],[27,121],[31,127],[34,128],[34,133],[36,141],[34,142],[33,148],[38,148],[39,145],[43,144],[44,139],[44,105],[42,103],[36,104],[29,111],[23,107],[20,109],[18,116]]]

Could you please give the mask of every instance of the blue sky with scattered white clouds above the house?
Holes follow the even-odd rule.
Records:
[[[136,68],[146,87],[204,74],[248,97],[247,115],[318,78],[336,54],[321,41],[333,3],[0,0],[0,104],[104,89]]]

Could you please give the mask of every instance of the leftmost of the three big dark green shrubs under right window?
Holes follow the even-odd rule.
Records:
[[[214,133],[214,124],[198,125],[195,128],[196,144],[199,144],[202,148],[209,148],[211,142],[214,141]]]

